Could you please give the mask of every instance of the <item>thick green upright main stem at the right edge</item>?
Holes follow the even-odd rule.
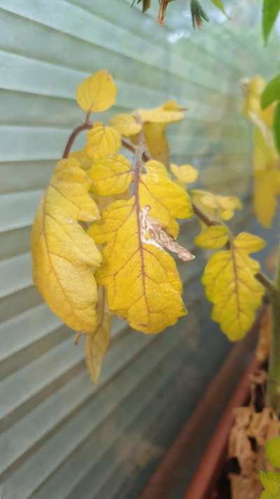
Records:
[[[270,295],[272,330],[269,348],[267,404],[280,414],[280,246],[274,291]]]

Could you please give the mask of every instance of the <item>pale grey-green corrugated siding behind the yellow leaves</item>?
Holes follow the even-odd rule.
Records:
[[[167,98],[188,107],[170,135],[174,161],[193,161],[204,186],[248,194],[251,129],[239,114],[239,79],[273,72],[263,53],[255,55],[255,35],[244,44],[230,23],[212,22],[188,38],[182,4],[169,9],[165,29],[155,25],[155,7],[142,17],[129,4],[0,0],[3,499],[137,497],[143,471],[153,470],[229,349],[209,320],[201,252],[195,265],[180,265],[189,316],[155,337],[114,321],[97,388],[85,371],[83,341],[73,345],[32,286],[34,211],[82,118],[75,88],[97,69],[116,78],[113,112]],[[194,222],[183,224],[181,240],[196,232]]]

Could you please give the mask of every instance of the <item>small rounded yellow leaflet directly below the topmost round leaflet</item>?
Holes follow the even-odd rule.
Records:
[[[98,123],[87,132],[85,153],[96,161],[110,154],[116,154],[121,145],[120,134],[114,128]]]

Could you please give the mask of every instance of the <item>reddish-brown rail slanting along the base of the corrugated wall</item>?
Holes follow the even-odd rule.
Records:
[[[211,496],[211,493],[213,493],[221,462],[227,452],[228,436],[235,420],[234,409],[243,406],[248,400],[250,375],[258,368],[260,368],[260,363],[253,357],[237,385],[235,394],[218,424],[217,430],[190,482],[190,486],[188,486],[185,499],[209,499],[209,497],[215,497]]]

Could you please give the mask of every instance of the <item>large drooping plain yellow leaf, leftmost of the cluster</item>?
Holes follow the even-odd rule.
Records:
[[[97,325],[94,269],[101,255],[78,222],[99,218],[90,179],[77,159],[57,164],[38,206],[31,236],[34,284],[50,309],[76,331]]]

